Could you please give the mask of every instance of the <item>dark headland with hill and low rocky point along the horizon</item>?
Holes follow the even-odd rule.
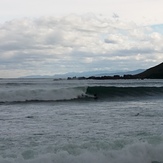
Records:
[[[123,76],[113,75],[113,76],[90,76],[90,77],[68,77],[67,80],[106,80],[106,79],[163,79],[163,62],[159,65],[151,67],[141,73],[132,75],[125,74]]]

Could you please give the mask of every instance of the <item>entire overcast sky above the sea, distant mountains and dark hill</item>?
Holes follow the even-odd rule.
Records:
[[[163,62],[163,0],[0,0],[0,77]]]

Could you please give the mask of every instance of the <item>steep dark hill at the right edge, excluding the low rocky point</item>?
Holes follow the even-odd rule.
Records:
[[[134,75],[135,78],[163,79],[163,62],[157,66],[151,67],[146,71]]]

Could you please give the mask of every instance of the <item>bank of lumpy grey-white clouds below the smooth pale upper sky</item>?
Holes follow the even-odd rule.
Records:
[[[8,21],[0,24],[0,77],[148,68],[163,60],[156,27],[94,14]]]

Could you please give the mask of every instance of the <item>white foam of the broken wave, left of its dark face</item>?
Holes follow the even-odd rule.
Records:
[[[62,89],[16,89],[0,92],[0,102],[57,101],[75,99],[85,93],[86,88]]]

